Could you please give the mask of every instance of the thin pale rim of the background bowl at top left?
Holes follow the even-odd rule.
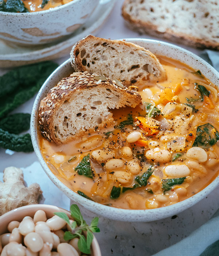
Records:
[[[29,15],[42,14],[42,12],[46,14],[46,13],[52,12],[54,10],[56,11],[58,8],[61,9],[61,8],[68,7],[69,5],[73,5],[79,1],[84,1],[84,0],[71,0],[69,3],[62,4],[62,5],[47,9],[47,10],[37,11],[37,12],[4,12],[4,11],[0,11],[0,15],[5,15],[5,16],[9,16],[9,15],[10,16],[25,16],[25,15],[27,15],[27,16],[29,16]]]

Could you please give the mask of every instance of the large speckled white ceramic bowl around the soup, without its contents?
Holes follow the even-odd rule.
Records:
[[[207,62],[202,60],[200,57],[195,54],[180,48],[178,46],[168,44],[161,41],[149,40],[149,39],[126,39],[128,42],[132,42],[134,44],[138,44],[146,49],[150,50],[154,54],[168,56],[169,58],[179,60],[182,63],[193,67],[196,70],[200,70],[203,75],[207,79],[209,79],[212,83],[219,86],[219,73]],[[53,74],[46,80],[43,84],[41,90],[37,94],[37,98],[35,99],[34,106],[31,114],[31,138],[34,146],[35,153],[41,163],[43,169],[54,182],[54,184],[61,189],[70,199],[73,201],[82,204],[88,210],[95,212],[98,215],[103,215],[104,217],[110,219],[116,219],[120,221],[134,221],[134,222],[147,222],[147,221],[155,221],[158,219],[164,219],[166,217],[172,216],[181,212],[195,203],[199,202],[205,196],[207,196],[216,186],[219,184],[219,176],[215,178],[214,181],[211,182],[206,188],[197,193],[196,195],[185,199],[182,202],[173,204],[171,206],[161,207],[157,209],[151,210],[126,210],[119,209],[110,206],[105,206],[103,204],[99,204],[96,202],[92,202],[77,193],[73,192],[71,189],[66,187],[61,181],[58,180],[57,177],[50,171],[49,167],[46,165],[44,161],[41,151],[39,149],[38,143],[38,125],[37,125],[37,116],[38,109],[41,99],[43,99],[49,90],[55,86],[59,80],[62,78],[69,76],[72,72],[72,67],[70,65],[70,60],[66,60],[62,65],[60,65]],[[41,136],[41,135],[40,135]]]

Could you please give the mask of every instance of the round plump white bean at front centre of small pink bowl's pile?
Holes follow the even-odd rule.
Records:
[[[43,248],[43,240],[41,236],[35,232],[28,233],[24,237],[24,244],[32,252],[39,252]]]

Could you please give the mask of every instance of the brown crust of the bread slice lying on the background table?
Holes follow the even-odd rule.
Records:
[[[209,48],[214,50],[219,50],[219,44],[212,41],[206,41],[202,38],[197,38],[185,33],[174,32],[172,29],[168,28],[165,32],[158,31],[158,26],[151,22],[144,22],[142,20],[135,19],[130,14],[126,12],[126,6],[130,0],[125,0],[122,6],[122,16],[127,21],[127,25],[132,30],[137,30],[139,33],[150,34],[155,37],[165,38],[170,41],[176,42],[178,44],[185,44],[188,46],[193,46],[195,48]]]

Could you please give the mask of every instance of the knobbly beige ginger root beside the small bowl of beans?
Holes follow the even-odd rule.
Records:
[[[13,166],[5,168],[3,181],[0,181],[0,215],[21,206],[38,204],[41,188],[37,183],[25,187],[21,169]]]

